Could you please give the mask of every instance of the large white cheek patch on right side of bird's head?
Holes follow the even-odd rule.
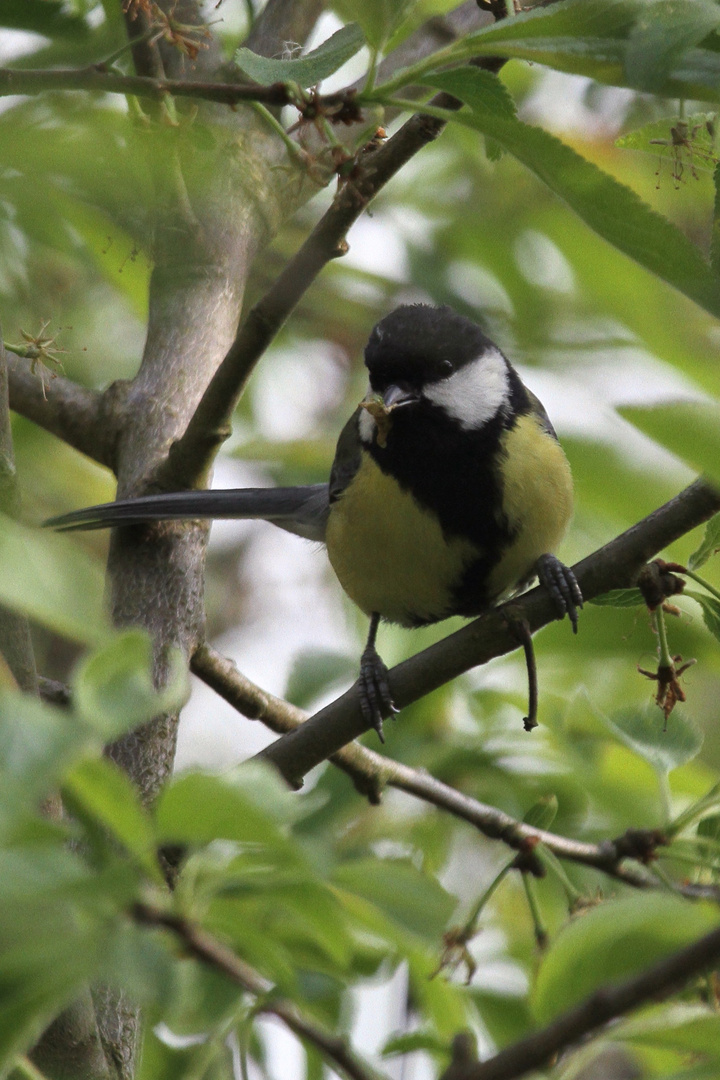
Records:
[[[449,379],[425,387],[423,394],[470,431],[481,428],[507,402],[507,383],[505,357],[499,349],[488,349]]]

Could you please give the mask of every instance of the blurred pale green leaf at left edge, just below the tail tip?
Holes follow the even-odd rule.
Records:
[[[78,543],[0,514],[0,602],[64,637],[97,645],[110,635],[100,563]]]

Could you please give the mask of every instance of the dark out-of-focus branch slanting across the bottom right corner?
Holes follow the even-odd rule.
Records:
[[[516,1080],[546,1068],[552,1058],[610,1021],[651,1001],[663,1001],[720,960],[720,929],[679,949],[640,975],[602,986],[547,1027],[501,1050],[487,1062],[453,1062],[441,1080]]]

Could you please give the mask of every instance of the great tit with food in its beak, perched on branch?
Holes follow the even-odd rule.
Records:
[[[382,738],[382,717],[396,710],[375,647],[381,619],[477,616],[538,576],[576,631],[582,595],[552,554],[572,514],[567,458],[542,404],[480,327],[448,307],[399,307],[373,328],[365,363],[368,394],[340,434],[329,483],[149,495],[46,524],[264,518],[323,541],[370,617],[361,703]]]

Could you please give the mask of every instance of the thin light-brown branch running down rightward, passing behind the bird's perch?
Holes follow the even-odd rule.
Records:
[[[195,650],[190,667],[203,683],[243,716],[260,720],[271,731],[277,733],[295,731],[308,718],[308,714],[301,708],[260,689],[242,675],[231,660],[220,656],[207,644],[201,645]],[[473,825],[488,839],[500,840],[514,851],[528,851],[540,842],[558,859],[590,866],[622,881],[623,885],[635,889],[657,887],[657,881],[651,875],[643,873],[639,867],[624,865],[624,860],[628,858],[624,837],[617,840],[603,840],[600,843],[588,843],[535,828],[526,822],[517,821],[497,807],[464,795],[427,772],[413,769],[402,761],[394,761],[359,743],[343,746],[329,760],[347,772],[355,787],[363,795],[367,795],[373,804],[380,801],[385,787],[396,787],[439,810],[446,810],[454,818]],[[680,891],[692,899],[707,896],[720,900],[720,891],[716,887],[709,887],[708,890],[704,888],[698,890],[694,886],[680,887]]]

